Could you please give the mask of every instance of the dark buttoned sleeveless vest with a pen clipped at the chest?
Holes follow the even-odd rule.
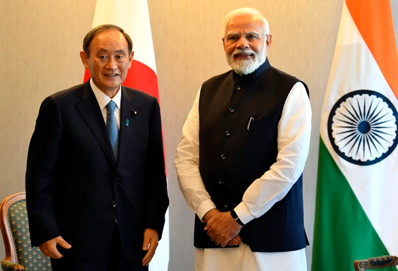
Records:
[[[276,162],[278,123],[287,96],[298,81],[271,67],[267,59],[252,74],[241,76],[229,71],[203,83],[199,98],[199,170],[220,211],[234,209],[250,184]],[[194,246],[221,248],[210,240],[204,227],[196,216]],[[308,240],[302,175],[281,201],[244,225],[239,235],[253,252],[305,248]]]

